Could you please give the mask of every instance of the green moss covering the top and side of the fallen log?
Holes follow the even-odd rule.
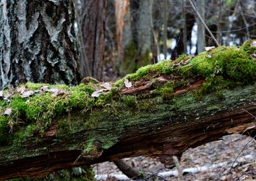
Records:
[[[93,160],[123,137],[135,134],[137,127],[198,121],[205,115],[237,109],[256,99],[255,68],[256,61],[243,48],[219,47],[196,57],[139,68],[110,84],[109,91],[104,84],[90,81],[78,86],[28,82],[18,88],[34,91],[34,95],[22,98],[18,88],[3,93],[10,96],[0,102],[0,152],[12,154],[3,154],[2,159],[13,160],[13,153],[17,153],[15,158],[47,154],[48,146],[20,149],[31,142],[43,145],[46,137],[54,135],[55,149],[79,149],[84,158]],[[131,88],[125,87],[125,79]],[[45,86],[59,92],[42,91]],[[104,92],[92,97],[96,90]],[[6,114],[7,109],[11,113]]]

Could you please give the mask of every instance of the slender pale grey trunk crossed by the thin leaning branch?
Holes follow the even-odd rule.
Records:
[[[197,11],[205,21],[205,0],[197,0]],[[205,27],[199,17],[197,20],[197,54],[203,52],[205,48]]]

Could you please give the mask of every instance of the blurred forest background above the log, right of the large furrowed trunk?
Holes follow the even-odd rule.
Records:
[[[255,1],[191,2],[220,45],[240,45],[255,38]],[[216,46],[191,2],[77,0],[82,76],[116,80],[141,66]]]

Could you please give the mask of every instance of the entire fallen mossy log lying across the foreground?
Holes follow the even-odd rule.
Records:
[[[0,179],[133,156],[172,156],[256,133],[256,42],[140,68],[117,82],[0,91]]]

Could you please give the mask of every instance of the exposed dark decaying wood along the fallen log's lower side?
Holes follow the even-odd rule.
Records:
[[[162,81],[161,78],[158,80]],[[174,93],[176,96],[186,97],[202,81],[195,81],[191,86]],[[144,83],[144,86],[150,88],[149,84]],[[28,139],[22,145],[2,147],[0,179],[40,177],[62,168],[133,156],[151,156],[159,158],[167,166],[173,166],[172,156],[180,157],[189,147],[197,147],[232,133],[251,136],[256,133],[253,116],[256,115],[255,85],[226,91],[224,99],[217,100],[206,95],[201,101],[185,101],[179,107],[171,107],[172,103],[169,101],[156,101],[155,97],[147,97],[148,92],[138,87],[123,88],[120,93],[126,94],[129,90],[131,94],[140,94],[137,100],[151,104],[149,109],[135,108],[133,114],[119,120],[106,115],[106,125],[61,136],[58,135],[57,127],[61,117],[58,117],[43,137],[37,136],[37,141]],[[207,107],[218,109],[206,109]],[[122,110],[117,112],[122,113]],[[75,115],[77,113],[69,116]],[[96,112],[91,116],[97,117]],[[86,121],[86,118],[80,119]],[[82,145],[87,143],[91,134],[96,135],[95,137],[117,135],[117,141],[111,147],[103,148],[103,143],[96,138],[92,141],[92,149],[85,152]]]

